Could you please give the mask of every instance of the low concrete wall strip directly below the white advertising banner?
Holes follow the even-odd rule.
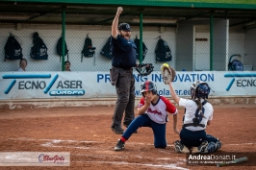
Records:
[[[172,98],[168,98],[175,106]],[[255,105],[255,96],[209,97],[212,105]],[[32,100],[1,100],[0,109],[39,109],[58,107],[115,107],[116,98],[93,99],[32,99]],[[135,107],[140,98],[136,98]]]

